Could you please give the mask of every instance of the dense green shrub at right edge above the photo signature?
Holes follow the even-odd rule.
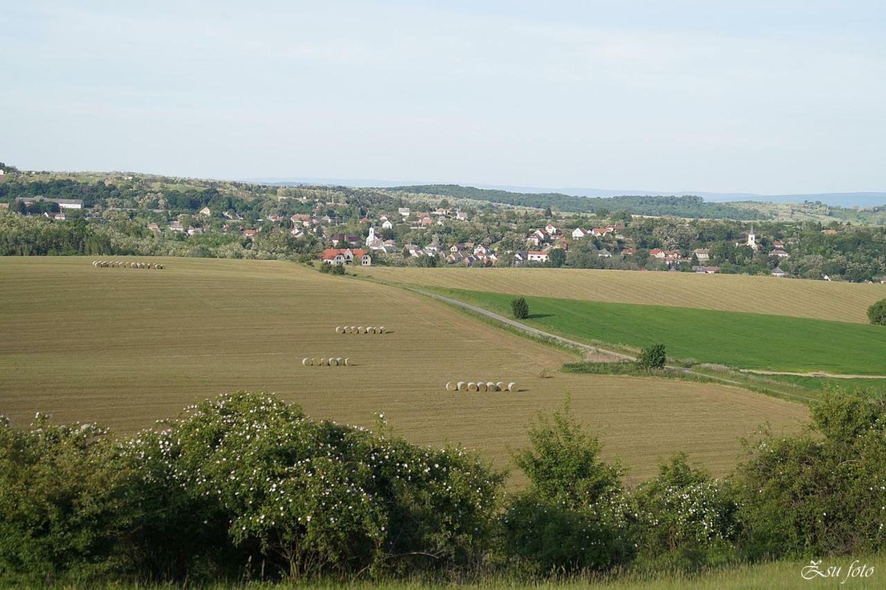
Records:
[[[886,547],[884,401],[827,392],[794,437],[767,434],[739,472],[742,547],[754,558]]]

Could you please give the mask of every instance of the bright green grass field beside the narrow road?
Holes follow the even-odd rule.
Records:
[[[502,315],[514,295],[435,289]],[[740,369],[886,375],[886,329],[784,315],[527,297],[527,323],[633,348],[663,343],[678,359]]]

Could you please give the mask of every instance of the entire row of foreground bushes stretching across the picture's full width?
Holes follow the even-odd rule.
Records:
[[[731,477],[665,462],[627,489],[567,405],[515,454],[316,422],[238,392],[128,437],[0,422],[0,581],[540,581],[868,555],[886,543],[886,403],[829,393],[792,437],[764,434]]]

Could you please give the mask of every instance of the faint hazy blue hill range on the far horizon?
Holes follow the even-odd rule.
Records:
[[[401,189],[409,190],[416,187],[429,186],[459,186],[455,184],[410,184],[409,182],[384,181],[377,179],[335,179],[335,178],[249,178],[247,182],[266,182],[269,184],[280,184],[284,186],[294,186],[299,184],[325,184],[330,186],[346,186],[346,187],[377,187],[385,189]],[[756,201],[761,203],[803,203],[804,201],[820,201],[830,206],[841,207],[872,207],[886,206],[886,191],[884,192],[825,192],[825,193],[798,193],[792,195],[760,195],[750,192],[705,192],[701,190],[607,190],[607,189],[582,189],[582,188],[563,188],[563,189],[543,189],[538,187],[527,186],[509,186],[494,184],[476,184],[478,189],[505,191],[516,194],[525,195],[563,195],[566,197],[590,197],[590,198],[612,198],[612,197],[679,197],[679,196],[696,196],[703,198],[706,202],[711,203],[727,203],[730,201]],[[465,187],[473,188],[473,187]],[[416,190],[416,192],[425,192],[424,190]],[[493,199],[489,199],[493,200]]]

